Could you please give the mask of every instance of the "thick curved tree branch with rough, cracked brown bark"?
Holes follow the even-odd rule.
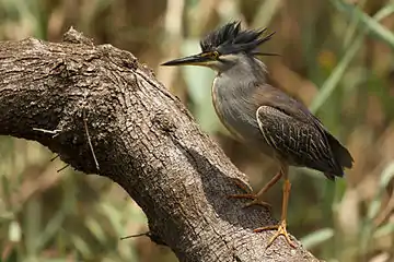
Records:
[[[282,237],[266,249],[274,233],[252,229],[276,223],[269,212],[227,199],[245,175],[131,53],[72,28],[59,44],[0,43],[0,134],[37,141],[120,184],[147,214],[152,240],[179,261],[317,261]]]

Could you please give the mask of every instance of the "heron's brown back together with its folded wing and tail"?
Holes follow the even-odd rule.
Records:
[[[268,84],[256,86],[253,97],[260,105],[256,110],[259,130],[277,157],[323,171],[331,179],[352,166],[349,152],[301,103]]]

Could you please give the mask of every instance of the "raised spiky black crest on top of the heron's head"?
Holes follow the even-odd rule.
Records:
[[[253,52],[259,45],[269,40],[275,33],[263,34],[267,29],[241,29],[241,22],[228,23],[208,34],[201,41],[202,52],[219,51],[220,53]]]

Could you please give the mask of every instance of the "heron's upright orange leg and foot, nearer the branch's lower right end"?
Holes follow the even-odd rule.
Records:
[[[292,248],[296,248],[296,245],[290,240],[290,236],[287,233],[287,209],[288,209],[288,203],[289,203],[289,195],[290,195],[290,188],[291,188],[291,183],[290,180],[288,178],[288,167],[282,168],[281,170],[283,171],[283,177],[285,177],[285,183],[283,183],[283,202],[282,202],[282,212],[281,212],[281,217],[280,217],[280,223],[279,225],[276,226],[266,226],[266,227],[260,227],[260,228],[256,228],[254,229],[255,233],[259,233],[259,231],[265,231],[265,230],[277,230],[276,234],[271,237],[271,239],[269,240],[267,248],[274,242],[274,240],[279,237],[280,235],[282,235],[286,238],[286,241],[288,242],[288,245],[290,245]]]

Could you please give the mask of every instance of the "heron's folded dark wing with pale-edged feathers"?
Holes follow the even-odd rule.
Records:
[[[288,115],[273,106],[260,106],[256,110],[258,128],[265,142],[275,148],[282,159],[291,165],[327,174],[343,174],[343,168],[336,163],[322,130],[314,121],[308,121],[308,116],[302,115],[304,111]]]

